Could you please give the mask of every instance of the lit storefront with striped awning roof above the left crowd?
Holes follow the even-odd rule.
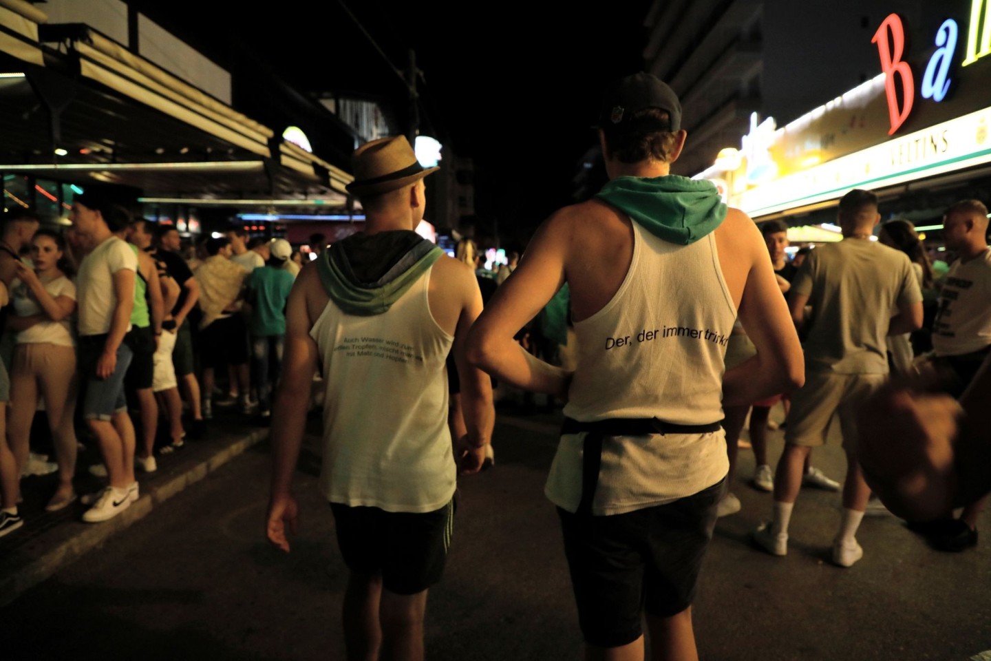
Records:
[[[100,9],[91,8],[92,21],[124,42],[90,25],[53,24],[23,0],[0,0],[4,208],[30,206],[64,222],[74,194],[101,188],[187,234],[225,227],[242,213],[348,213],[351,175],[314,154],[298,131],[286,132],[290,118],[263,123],[236,110],[223,100],[226,71],[141,15]],[[175,68],[150,59],[153,47]],[[206,66],[220,80],[209,88],[171,72]],[[272,234],[267,223],[254,226]]]

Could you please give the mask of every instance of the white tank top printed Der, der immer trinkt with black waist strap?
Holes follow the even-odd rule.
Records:
[[[701,425],[722,419],[722,373],[736,306],[713,234],[668,243],[636,223],[633,259],[619,289],[575,323],[578,367],[567,416],[583,422],[656,417]],[[584,434],[561,437],[546,495],[569,510],[582,491]],[[691,496],[727,470],[724,434],[606,439],[594,514],[618,514]]]

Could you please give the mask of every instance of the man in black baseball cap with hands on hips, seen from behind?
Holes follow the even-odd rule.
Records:
[[[722,406],[801,385],[802,347],[753,221],[711,181],[671,174],[686,138],[674,91],[643,72],[617,80],[599,129],[608,182],[537,231],[472,327],[469,360],[568,402],[544,493],[587,658],[643,658],[646,613],[655,656],[693,659],[691,605],[726,492]],[[573,373],[513,340],[565,283]],[[759,358],[725,371],[737,314]]]

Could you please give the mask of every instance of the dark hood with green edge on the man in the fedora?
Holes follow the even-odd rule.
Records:
[[[348,314],[382,314],[444,251],[415,232],[354,234],[317,261],[327,295]]]

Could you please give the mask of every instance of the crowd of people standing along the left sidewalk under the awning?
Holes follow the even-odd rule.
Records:
[[[78,499],[83,521],[105,521],[138,498],[136,469],[154,473],[187,434],[203,438],[215,406],[263,424],[272,413],[301,268],[286,240],[232,227],[184,256],[173,225],[89,192],[69,221],[50,226],[23,209],[0,228],[0,536],[24,523],[25,475],[57,472],[47,511]],[[45,436],[32,434],[39,411],[54,462],[33,452]],[[86,443],[101,457],[88,470],[106,486],[80,495]]]

